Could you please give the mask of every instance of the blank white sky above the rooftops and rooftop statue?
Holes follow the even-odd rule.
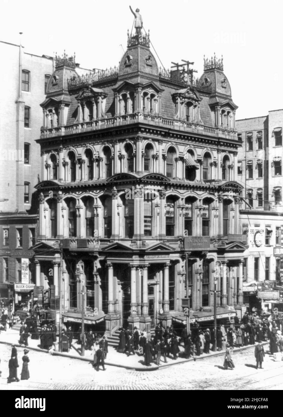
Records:
[[[200,77],[204,54],[223,55],[237,119],[283,108],[282,0],[139,0],[131,7],[140,9],[165,68],[194,61]],[[102,69],[118,65],[134,20],[129,0],[1,0],[1,17],[0,40],[18,44],[23,32],[25,52],[66,49],[81,67]]]

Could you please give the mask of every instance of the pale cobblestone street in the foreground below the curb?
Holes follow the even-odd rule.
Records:
[[[18,349],[18,377],[22,366],[23,349]],[[256,370],[254,347],[233,355],[235,369],[222,369],[222,356],[209,357],[196,362],[185,362],[152,372],[138,372],[107,366],[96,372],[90,363],[77,359],[53,357],[43,352],[30,351],[30,379],[7,384],[10,347],[1,345],[2,377],[0,389],[192,389],[192,390],[242,390],[283,389],[283,362],[274,362],[265,355],[264,369]],[[111,359],[111,358],[109,358]],[[125,357],[125,361],[126,361]],[[56,373],[54,372],[56,369]]]

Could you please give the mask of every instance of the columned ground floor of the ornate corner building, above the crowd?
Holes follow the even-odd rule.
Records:
[[[63,248],[62,261],[59,247],[47,246],[40,243],[33,248],[35,292],[49,291],[51,309],[57,311],[61,293],[65,318],[79,313],[84,301],[85,319],[93,326],[99,323],[99,327],[103,319],[108,334],[119,326],[150,332],[160,321],[164,327],[171,325],[176,315],[183,314],[182,299],[186,297],[194,311],[210,306],[213,309],[217,261],[225,266],[223,276],[216,280],[217,306],[243,305],[245,247],[239,244],[222,247],[217,253],[177,251],[164,243],[133,250],[126,244],[113,243],[97,251]]]

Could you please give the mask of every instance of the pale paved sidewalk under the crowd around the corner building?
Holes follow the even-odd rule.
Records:
[[[1,343],[15,344],[16,347],[22,347],[24,349],[23,345],[22,346],[19,345],[18,343],[19,339],[20,339],[19,331],[16,329],[7,328],[6,332],[1,330],[0,344]],[[58,337],[57,337],[57,342],[58,342]],[[268,342],[264,342],[264,344],[268,344]],[[58,348],[58,344],[57,344],[57,348]],[[245,349],[250,349],[250,348],[254,348],[254,345],[248,345],[248,346],[241,347],[241,348],[234,348],[234,352],[238,352],[240,350],[245,350]],[[30,337],[28,338],[28,349],[38,350],[41,352],[48,353],[46,349],[40,349],[39,339],[38,340],[31,339]],[[180,349],[180,355],[182,356],[184,352],[184,347],[179,346],[179,349]],[[116,349],[112,346],[109,346],[108,350],[109,350],[109,353],[107,354],[107,359],[105,360],[106,365],[122,367],[126,369],[135,369],[137,371],[154,371],[162,367],[167,367],[171,365],[180,364],[183,362],[193,361],[192,358],[184,359],[182,357],[178,357],[176,360],[174,360],[172,359],[172,355],[170,355],[170,358],[167,358],[167,364],[163,362],[163,358],[162,358],[159,366],[157,366],[155,363],[152,363],[151,366],[146,366],[144,365],[144,357],[140,354],[137,354],[137,353],[135,355],[131,354],[129,357],[127,357],[126,354],[117,352]],[[200,360],[200,359],[205,359],[207,357],[218,356],[218,355],[223,355],[224,357],[224,353],[225,353],[224,351],[220,351],[220,352],[211,351],[209,354],[202,354],[200,356],[196,356],[195,358],[196,360]],[[69,352],[53,351],[53,354],[59,355],[62,357],[71,357],[74,359],[79,359],[79,360],[88,361],[88,362],[91,362],[93,360],[93,351],[85,350],[85,355],[84,357],[82,357],[81,346],[76,344],[76,342],[72,344],[72,349],[70,349]]]

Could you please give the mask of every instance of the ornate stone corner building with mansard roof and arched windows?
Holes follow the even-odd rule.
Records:
[[[93,322],[105,317],[108,333],[182,322],[184,296],[195,317],[209,312],[215,262],[242,271],[246,249],[242,142],[222,59],[206,59],[196,81],[189,63],[158,68],[149,35],[128,33],[118,68],[79,76],[73,57],[56,58],[41,106],[36,285],[54,286],[56,300],[61,284],[71,317],[85,283]],[[242,281],[218,280],[217,314],[243,304]]]

